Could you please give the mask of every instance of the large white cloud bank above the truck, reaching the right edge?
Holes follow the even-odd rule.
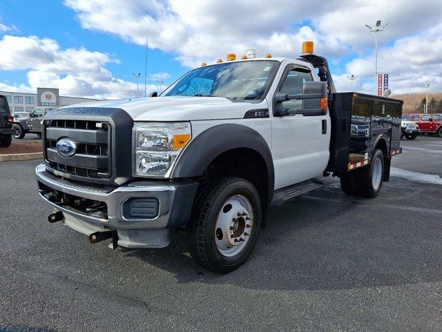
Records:
[[[243,54],[247,48],[256,48],[260,55],[271,52],[274,56],[297,57],[301,42],[313,40],[316,53],[330,63],[349,62],[347,73],[358,75],[354,89],[369,93],[374,91],[374,33],[365,24],[374,25],[381,19],[390,25],[378,34],[378,71],[390,73],[394,92],[414,91],[424,80],[442,91],[438,83],[442,77],[440,0],[64,3],[77,13],[84,28],[139,45],[144,45],[148,36],[150,48],[174,53],[175,60],[187,67],[214,62],[231,52]],[[344,73],[334,76],[338,89],[349,89]]]

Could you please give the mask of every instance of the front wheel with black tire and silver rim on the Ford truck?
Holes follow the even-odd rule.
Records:
[[[247,260],[262,220],[260,196],[243,178],[225,176],[197,194],[191,225],[191,255],[198,264],[229,273]]]

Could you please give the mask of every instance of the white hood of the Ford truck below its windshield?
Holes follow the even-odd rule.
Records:
[[[231,102],[222,97],[156,97],[85,102],[63,108],[72,107],[124,109],[134,121],[191,121],[244,118],[247,111],[268,106],[266,100],[252,104]]]

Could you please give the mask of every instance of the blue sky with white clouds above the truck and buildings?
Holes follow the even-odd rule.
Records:
[[[131,98],[132,73],[144,75],[148,36],[148,90],[232,51],[296,57],[302,40],[314,40],[340,91],[349,90],[346,75],[354,74],[354,90],[372,92],[374,34],[365,24],[376,19],[390,22],[379,35],[378,71],[390,74],[392,90],[421,92],[430,83],[442,91],[440,1],[277,2],[0,0],[0,91],[35,92],[49,84],[62,95]],[[427,46],[428,62],[416,43]],[[142,84],[144,77],[144,92]]]

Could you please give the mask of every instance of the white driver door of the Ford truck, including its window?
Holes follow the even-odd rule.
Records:
[[[305,82],[313,82],[310,69],[289,65],[275,93],[302,93]],[[273,102],[272,107],[298,109],[302,107],[302,101]],[[271,132],[275,190],[323,174],[329,160],[328,113],[316,116],[275,116],[272,118]]]

